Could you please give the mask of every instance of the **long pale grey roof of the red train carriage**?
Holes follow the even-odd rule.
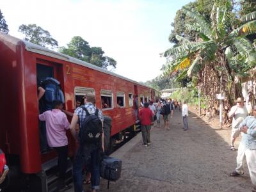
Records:
[[[43,54],[45,56],[49,56],[49,57],[52,57],[52,58],[57,58],[57,59],[60,59],[60,60],[71,62],[71,63],[76,63],[77,65],[82,65],[84,67],[92,68],[93,70],[97,70],[97,71],[103,72],[105,74],[109,74],[111,76],[115,76],[115,77],[118,77],[118,78],[121,78],[121,79],[125,79],[127,81],[132,82],[132,83],[140,84],[141,86],[145,86],[147,88],[153,89],[150,86],[138,83],[137,81],[134,81],[134,80],[129,79],[127,77],[120,76],[120,75],[115,74],[114,72],[110,72],[110,71],[108,71],[104,68],[100,68],[100,67],[97,67],[95,65],[92,65],[91,63],[87,63],[85,61],[78,60],[78,59],[73,58],[71,56],[68,56],[66,54],[62,54],[60,52],[52,51],[51,49],[47,49],[45,47],[33,44],[31,42],[27,42],[25,40],[20,40],[19,38],[16,38],[16,37],[10,36],[10,35],[6,35],[5,33],[0,32],[0,40],[4,40],[6,42],[10,42],[10,43],[15,44],[15,45],[18,45],[21,42],[25,45],[27,51],[36,52],[38,54]]]

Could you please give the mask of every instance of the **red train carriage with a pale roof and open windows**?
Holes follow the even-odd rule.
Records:
[[[95,93],[96,106],[102,108],[106,102],[102,111],[113,118],[112,136],[134,125],[134,95],[139,95],[141,102],[156,99],[155,90],[136,81],[3,33],[0,63],[0,148],[10,164],[19,164],[20,172],[26,174],[42,173],[56,157],[54,151],[40,154],[38,81],[58,79],[65,95],[64,108],[70,112],[74,112],[76,99],[86,92]],[[72,156],[75,143],[70,135],[68,141]]]

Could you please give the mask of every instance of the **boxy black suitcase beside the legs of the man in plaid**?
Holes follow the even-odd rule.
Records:
[[[116,181],[121,176],[122,160],[104,156],[100,163],[100,177],[109,181]]]

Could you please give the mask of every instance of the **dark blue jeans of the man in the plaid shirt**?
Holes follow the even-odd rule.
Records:
[[[91,166],[92,166],[90,169],[92,170],[92,177],[91,177],[92,189],[100,188],[100,161],[98,159],[99,158],[98,154],[99,154],[98,149],[93,150],[92,153],[90,154]],[[74,159],[74,164],[73,164],[75,192],[83,191],[82,170],[84,168],[84,163],[85,163],[85,159],[78,150],[76,157]]]

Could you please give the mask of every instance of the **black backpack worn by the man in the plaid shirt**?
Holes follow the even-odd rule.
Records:
[[[81,108],[86,112],[86,116],[80,125],[80,143],[100,143],[102,122],[98,117],[99,109],[96,108],[95,114],[90,114],[84,106]]]

